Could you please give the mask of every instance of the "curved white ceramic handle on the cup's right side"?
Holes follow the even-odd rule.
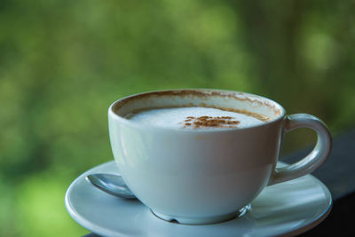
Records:
[[[312,152],[301,161],[285,167],[276,168],[272,173],[268,186],[309,174],[327,160],[327,156],[332,147],[332,138],[329,130],[327,130],[327,125],[313,115],[296,114],[286,116],[283,134],[297,128],[315,130],[317,132],[317,144],[314,146]]]

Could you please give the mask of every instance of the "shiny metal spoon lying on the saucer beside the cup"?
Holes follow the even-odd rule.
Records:
[[[92,174],[86,177],[93,186],[98,187],[107,194],[126,198],[136,199],[137,197],[126,186],[121,175],[114,174]]]

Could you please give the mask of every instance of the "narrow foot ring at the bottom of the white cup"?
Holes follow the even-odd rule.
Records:
[[[251,209],[251,205],[248,204],[247,206],[239,209],[236,212],[226,214],[226,215],[221,215],[221,216],[214,216],[214,217],[174,217],[171,215],[166,215],[162,214],[160,212],[157,212],[153,209],[151,211],[153,212],[154,216],[161,218],[162,220],[169,221],[169,222],[176,222],[177,224],[183,224],[183,225],[208,225],[208,224],[215,224],[219,222],[224,222],[231,220],[233,218],[239,218],[244,216],[247,211]]]

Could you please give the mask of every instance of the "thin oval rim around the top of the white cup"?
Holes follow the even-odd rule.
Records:
[[[271,121],[268,122],[263,122],[261,124],[256,124],[254,126],[249,126],[245,128],[215,128],[213,130],[204,130],[204,129],[199,129],[199,130],[182,130],[179,128],[167,128],[167,127],[160,127],[160,126],[146,126],[146,124],[141,124],[138,122],[132,122],[129,119],[126,119],[122,117],[121,115],[117,115],[114,112],[114,107],[116,107],[118,104],[122,103],[123,101],[133,99],[133,98],[138,98],[142,96],[148,96],[150,94],[154,93],[174,93],[176,91],[188,91],[190,93],[193,93],[193,91],[196,92],[209,92],[209,93],[233,93],[233,94],[239,94],[239,95],[245,95],[246,97],[255,97],[258,99],[262,99],[265,101],[271,102],[275,107],[277,107],[280,110],[280,115],[278,115],[276,118],[272,119]],[[263,126],[267,126],[269,124],[272,124],[273,122],[278,122],[281,119],[284,118],[286,115],[286,110],[284,107],[282,107],[278,102],[265,98],[263,96],[259,96],[256,94],[248,93],[248,92],[243,92],[243,91],[230,91],[230,90],[218,90],[218,89],[171,89],[171,90],[158,90],[158,91],[146,91],[146,92],[141,92],[141,93],[136,93],[132,94],[130,96],[123,97],[122,99],[117,99],[115,100],[110,107],[108,107],[108,117],[113,117],[114,119],[118,120],[119,122],[122,122],[125,125],[128,125],[130,127],[137,128],[139,130],[154,130],[154,131],[174,131],[174,132],[182,132],[182,133],[213,133],[213,132],[231,132],[231,131],[239,131],[239,130],[250,130],[250,129],[255,129]]]

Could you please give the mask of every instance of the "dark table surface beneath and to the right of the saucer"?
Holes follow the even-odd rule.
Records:
[[[296,162],[311,151],[307,148],[282,157],[280,161]],[[330,190],[334,205],[329,216],[310,231],[299,236],[336,236],[341,230],[342,236],[351,234],[353,212],[355,211],[355,130],[336,136],[332,152],[326,162],[312,175],[319,178]],[[99,237],[88,233],[84,237]]]

